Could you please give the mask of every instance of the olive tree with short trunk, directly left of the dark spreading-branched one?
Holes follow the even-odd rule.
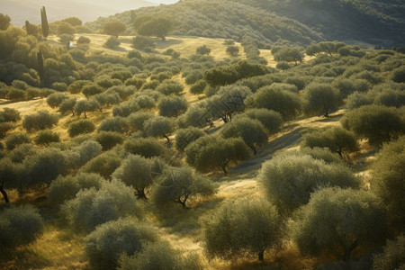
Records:
[[[147,199],[146,191],[152,182],[152,161],[139,155],[129,155],[122,160],[112,174],[112,178],[121,180],[135,189],[135,194],[140,199]]]

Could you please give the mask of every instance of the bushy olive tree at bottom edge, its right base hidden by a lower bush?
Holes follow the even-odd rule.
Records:
[[[132,256],[148,242],[157,241],[157,232],[131,217],[111,220],[85,237],[85,255],[94,269],[115,269],[122,254]]]

